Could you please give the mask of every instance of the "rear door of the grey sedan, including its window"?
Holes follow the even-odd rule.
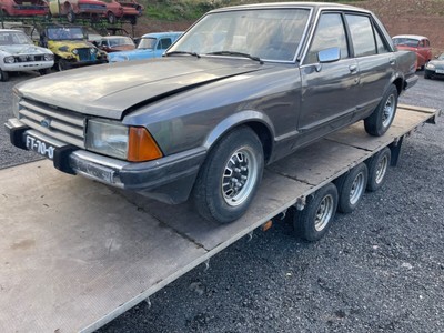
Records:
[[[359,101],[355,119],[372,112],[395,73],[396,58],[372,18],[361,13],[345,14],[353,56],[360,68]]]

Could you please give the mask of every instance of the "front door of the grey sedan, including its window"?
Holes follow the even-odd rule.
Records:
[[[341,50],[341,59],[320,63],[319,51]],[[349,124],[357,103],[360,73],[350,54],[343,14],[324,12],[301,65],[301,141],[309,142]]]

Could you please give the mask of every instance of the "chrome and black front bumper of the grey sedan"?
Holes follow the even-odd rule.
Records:
[[[4,125],[11,143],[20,149],[28,150],[27,135],[54,147],[53,165],[62,172],[81,174],[172,204],[188,200],[206,153],[204,148],[198,148],[154,161],[132,163],[65,144],[23,125],[17,119],[10,119]]]

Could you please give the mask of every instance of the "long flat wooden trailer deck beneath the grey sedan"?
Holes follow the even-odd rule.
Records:
[[[383,137],[360,122],[273,163],[249,212],[228,225],[50,161],[0,170],[0,332],[92,332],[385,147],[395,164],[403,139],[438,114],[398,105]]]

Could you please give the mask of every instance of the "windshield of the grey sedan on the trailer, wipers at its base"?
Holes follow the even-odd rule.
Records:
[[[307,9],[235,10],[205,16],[170,52],[293,61],[309,20]],[[260,32],[259,32],[260,31]]]

